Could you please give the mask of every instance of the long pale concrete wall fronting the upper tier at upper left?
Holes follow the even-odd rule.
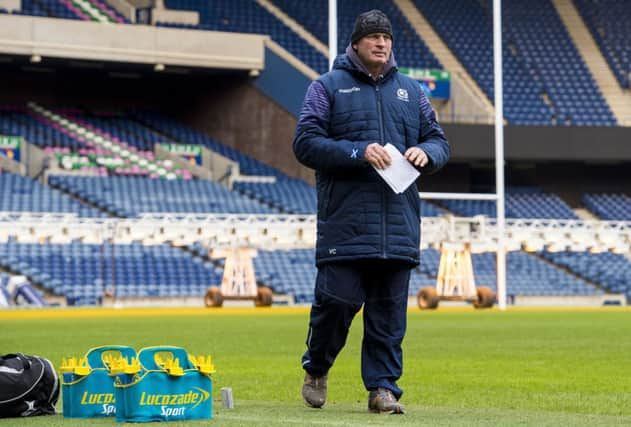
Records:
[[[267,36],[0,15],[0,52],[93,61],[260,70]]]

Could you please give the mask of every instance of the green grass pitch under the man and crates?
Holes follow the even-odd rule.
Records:
[[[403,416],[366,410],[360,317],[330,372],[328,403],[314,410],[300,397],[307,310],[65,312],[74,315],[0,312],[0,353],[38,354],[56,366],[105,344],[168,344],[213,356],[215,418],[173,426],[631,425],[631,311],[624,308],[412,309],[399,382]],[[235,409],[222,407],[221,387],[232,387]],[[61,415],[0,420],[0,427],[84,425],[117,423]]]

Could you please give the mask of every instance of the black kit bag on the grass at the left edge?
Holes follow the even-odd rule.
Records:
[[[58,398],[59,377],[48,359],[0,356],[0,418],[54,414]]]

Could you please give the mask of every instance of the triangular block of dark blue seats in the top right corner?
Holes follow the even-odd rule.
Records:
[[[574,0],[583,21],[620,86],[631,88],[631,3],[626,0]]]

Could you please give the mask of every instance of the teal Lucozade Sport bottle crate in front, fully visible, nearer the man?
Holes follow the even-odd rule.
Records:
[[[138,352],[134,374],[116,376],[116,421],[146,422],[212,418],[214,366],[181,347],[147,347]],[[127,372],[131,372],[127,369]]]

